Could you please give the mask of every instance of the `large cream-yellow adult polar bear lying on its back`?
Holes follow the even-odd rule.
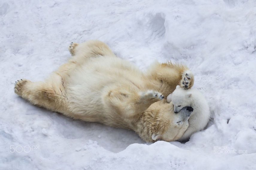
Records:
[[[160,101],[178,84],[193,86],[186,66],[155,63],[144,74],[101,41],[71,43],[69,51],[73,57],[45,82],[21,79],[15,93],[74,119],[133,129],[146,141],[178,140],[186,131],[191,109],[175,114]]]

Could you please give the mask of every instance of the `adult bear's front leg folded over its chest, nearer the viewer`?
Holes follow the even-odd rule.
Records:
[[[115,108],[125,118],[137,119],[152,103],[163,98],[164,96],[161,93],[153,90],[130,95],[121,91],[112,91],[108,96],[108,101],[111,107]]]

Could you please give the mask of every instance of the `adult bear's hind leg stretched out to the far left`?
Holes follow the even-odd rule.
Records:
[[[56,83],[58,81],[56,75],[53,79],[54,82],[50,82],[50,79],[46,82],[21,79],[16,82],[14,92],[32,104],[55,112],[63,112],[66,107],[65,90],[61,82]]]

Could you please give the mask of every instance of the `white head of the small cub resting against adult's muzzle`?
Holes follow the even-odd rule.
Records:
[[[179,85],[168,95],[167,101],[174,106],[174,112],[178,113],[182,108],[191,106],[191,93],[188,90],[181,88]]]

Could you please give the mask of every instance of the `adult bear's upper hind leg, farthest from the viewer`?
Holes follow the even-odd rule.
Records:
[[[72,42],[69,45],[69,52],[78,60],[97,56],[115,57],[114,53],[110,50],[107,44],[98,40],[86,41],[81,44]]]

